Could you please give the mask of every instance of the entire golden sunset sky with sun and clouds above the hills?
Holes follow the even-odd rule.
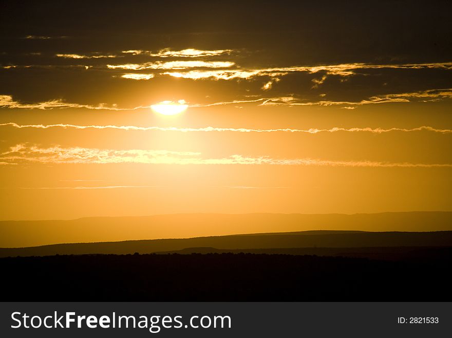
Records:
[[[58,6],[2,20],[1,220],[452,210],[447,8]]]

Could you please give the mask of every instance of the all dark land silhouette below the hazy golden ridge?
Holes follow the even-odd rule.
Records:
[[[432,222],[442,215],[443,223],[439,227],[447,229],[450,224],[446,222],[450,213],[402,214],[378,214],[375,218],[365,215],[361,221],[372,219],[376,226],[375,220],[386,220],[395,224],[394,228],[398,228],[400,221],[399,228],[404,228],[406,222],[418,215],[415,228],[435,228]],[[256,220],[255,217],[260,219],[262,215],[243,218]],[[431,219],[427,220],[427,215]],[[238,216],[234,218],[240,219]],[[279,216],[273,221],[280,220]],[[342,216],[334,215],[332,219]],[[360,222],[353,223],[352,228]],[[452,298],[448,276],[452,231],[447,230],[310,230],[67,243],[0,248],[0,257],[4,301],[445,301]]]

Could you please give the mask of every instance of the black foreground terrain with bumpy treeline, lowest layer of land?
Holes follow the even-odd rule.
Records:
[[[0,259],[0,300],[446,301],[451,247],[382,260],[287,254]]]

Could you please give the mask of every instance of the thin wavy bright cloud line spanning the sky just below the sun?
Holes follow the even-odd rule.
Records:
[[[429,126],[422,126],[417,128],[329,128],[329,129],[294,129],[294,128],[276,128],[276,129],[249,129],[249,128],[219,128],[219,127],[203,127],[203,128],[180,128],[180,127],[139,127],[139,126],[80,126],[78,124],[17,124],[15,122],[0,123],[0,127],[13,127],[13,128],[35,128],[35,129],[49,129],[49,128],[73,128],[73,129],[118,129],[118,130],[137,130],[137,131],[175,131],[175,132],[240,132],[240,133],[274,133],[274,132],[288,132],[288,133],[335,133],[335,132],[367,132],[373,134],[383,134],[389,132],[419,132],[428,131],[441,134],[452,134],[452,129],[438,129]]]

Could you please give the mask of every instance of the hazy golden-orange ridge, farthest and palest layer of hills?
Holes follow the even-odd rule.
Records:
[[[452,212],[385,212],[355,215],[176,214],[146,217],[94,217],[67,221],[0,221],[0,247],[253,233],[272,233],[271,236],[276,236],[274,233],[306,230],[372,232],[452,230]],[[315,235],[315,233],[312,234]],[[273,238],[272,241],[274,241]],[[335,240],[332,240],[331,243],[334,244],[334,242]],[[211,245],[208,243],[200,246]],[[174,250],[178,250],[177,247]]]

